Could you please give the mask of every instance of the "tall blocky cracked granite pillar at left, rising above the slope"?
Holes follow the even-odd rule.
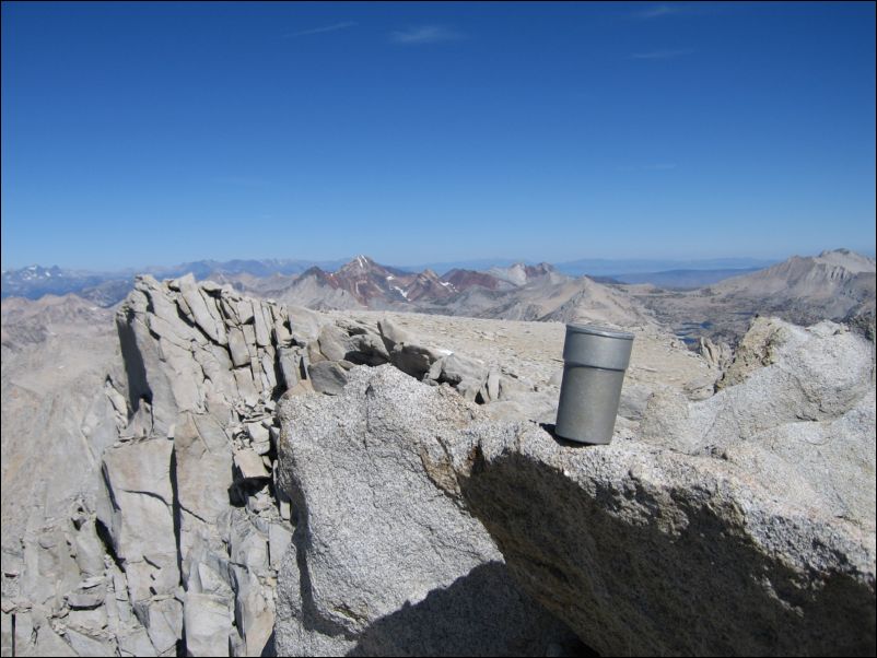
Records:
[[[191,277],[140,279],[117,325],[130,422],[104,455],[97,518],[135,612],[160,654],[184,637],[191,655],[270,650],[270,554],[291,536],[272,411],[313,327]]]

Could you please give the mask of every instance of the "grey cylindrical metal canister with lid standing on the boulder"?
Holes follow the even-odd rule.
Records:
[[[558,436],[586,444],[612,439],[632,348],[633,334],[627,331],[566,325]]]

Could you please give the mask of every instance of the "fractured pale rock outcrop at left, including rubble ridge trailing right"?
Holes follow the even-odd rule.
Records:
[[[297,518],[277,487],[280,395],[339,395],[356,364],[393,364],[479,402],[517,390],[389,320],[293,315],[191,277],[138,279],[116,315],[118,367],[83,428],[94,467],[65,473],[72,497],[32,515],[17,547],[4,534],[10,650],[272,653]]]

